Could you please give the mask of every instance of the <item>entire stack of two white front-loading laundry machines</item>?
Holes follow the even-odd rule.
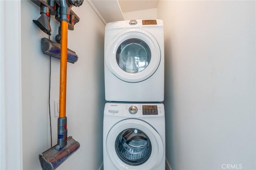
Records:
[[[162,20],[107,23],[104,170],[164,170]]]

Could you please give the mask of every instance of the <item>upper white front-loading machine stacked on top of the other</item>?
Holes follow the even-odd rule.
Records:
[[[162,20],[107,23],[104,59],[107,101],[164,101]]]

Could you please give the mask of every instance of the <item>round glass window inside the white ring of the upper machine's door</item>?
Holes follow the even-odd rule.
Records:
[[[118,66],[128,73],[144,70],[150,63],[151,52],[148,45],[136,38],[122,42],[116,51]]]

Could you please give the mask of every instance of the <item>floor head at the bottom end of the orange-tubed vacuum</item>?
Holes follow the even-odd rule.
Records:
[[[55,170],[60,166],[60,164],[76,152],[79,147],[80,144],[78,141],[75,141],[72,136],[70,136],[67,139],[67,145],[61,150],[58,150],[58,145],[55,145],[54,147],[39,154],[42,170]]]

